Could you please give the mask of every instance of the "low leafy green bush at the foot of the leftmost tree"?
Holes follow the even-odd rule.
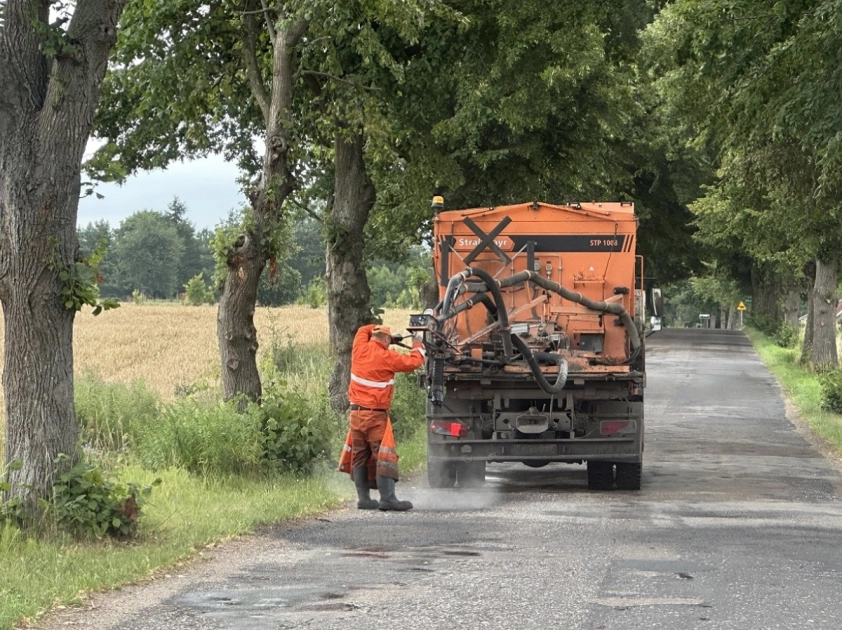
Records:
[[[66,461],[59,456],[59,464]],[[160,484],[160,480],[153,485]],[[151,486],[118,483],[102,469],[80,462],[60,474],[53,486],[56,523],[79,537],[126,537],[137,531]]]

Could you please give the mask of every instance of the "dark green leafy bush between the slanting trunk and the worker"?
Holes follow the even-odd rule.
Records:
[[[284,384],[270,383],[260,405],[249,406],[259,418],[261,460],[265,469],[308,474],[330,451],[334,431],[329,414],[320,413],[313,402]]]

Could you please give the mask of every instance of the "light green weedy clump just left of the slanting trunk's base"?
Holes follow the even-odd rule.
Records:
[[[134,450],[151,470],[175,466],[202,475],[255,474],[260,442],[256,418],[239,413],[233,402],[184,398],[144,427]]]

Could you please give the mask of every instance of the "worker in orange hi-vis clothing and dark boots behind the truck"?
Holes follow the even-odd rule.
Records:
[[[363,326],[354,336],[351,350],[350,442],[352,477],[357,487],[357,507],[361,510],[412,509],[409,501],[395,496],[398,480],[398,455],[389,406],[395,389],[396,372],[412,372],[424,363],[424,345],[419,336],[412,338],[412,351],[401,354],[390,350],[402,337],[392,336],[387,326]],[[380,501],[369,492],[369,462],[376,462]]]

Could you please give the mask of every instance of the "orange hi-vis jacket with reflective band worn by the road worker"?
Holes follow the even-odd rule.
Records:
[[[374,324],[363,326],[354,336],[348,400],[368,409],[388,411],[395,391],[395,372],[412,372],[421,367],[424,346],[413,343],[409,354],[394,352],[371,338],[374,328]]]

